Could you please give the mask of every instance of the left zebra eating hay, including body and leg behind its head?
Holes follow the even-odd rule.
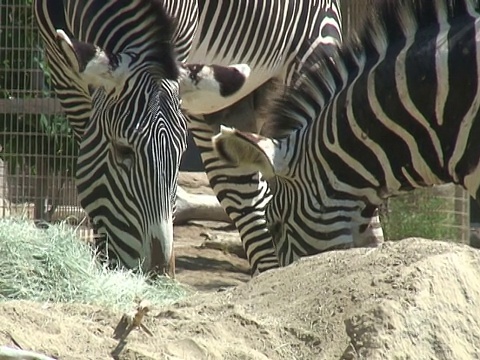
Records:
[[[139,261],[144,270],[166,267],[171,259],[175,179],[185,147],[179,73],[188,127],[252,271],[278,266],[264,219],[267,184],[258,173],[224,163],[210,139],[219,117],[235,123],[239,109],[256,116],[244,130],[262,131],[257,109],[269,84],[300,81],[314,49],[341,39],[337,1],[36,0],[35,9],[55,90],[80,145],[80,202],[108,235],[100,247],[130,268]],[[179,63],[197,65],[178,66],[174,51]],[[103,67],[86,67],[85,56]],[[124,64],[135,68],[125,73]],[[125,81],[129,74],[136,80]],[[105,82],[107,91],[90,92]]]

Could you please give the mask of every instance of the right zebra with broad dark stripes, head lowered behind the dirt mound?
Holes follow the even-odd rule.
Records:
[[[478,201],[479,8],[380,1],[335,54],[315,50],[306,81],[269,109],[268,136],[225,126],[212,139],[219,157],[270,184],[281,265],[355,243],[366,209],[392,196],[454,183]]]

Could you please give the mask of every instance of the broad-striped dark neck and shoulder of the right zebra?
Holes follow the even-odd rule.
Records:
[[[292,137],[297,156],[315,157],[327,186],[379,204],[414,188],[463,183],[461,170],[478,167],[478,158],[465,156],[480,109],[472,9],[438,7],[437,21],[426,24],[400,14],[397,24],[378,27],[375,38],[341,49],[322,60],[323,72],[309,74],[296,105],[303,101],[317,116]]]

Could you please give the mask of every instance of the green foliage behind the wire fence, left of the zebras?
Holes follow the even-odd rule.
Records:
[[[53,94],[32,11],[32,0],[0,4],[0,99],[29,99]],[[11,173],[72,174],[77,149],[63,116],[0,114],[0,153]]]

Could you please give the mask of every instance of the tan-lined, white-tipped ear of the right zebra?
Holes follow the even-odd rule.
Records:
[[[212,138],[213,147],[220,159],[245,171],[259,171],[265,180],[276,176],[274,140],[220,126],[220,133]]]

